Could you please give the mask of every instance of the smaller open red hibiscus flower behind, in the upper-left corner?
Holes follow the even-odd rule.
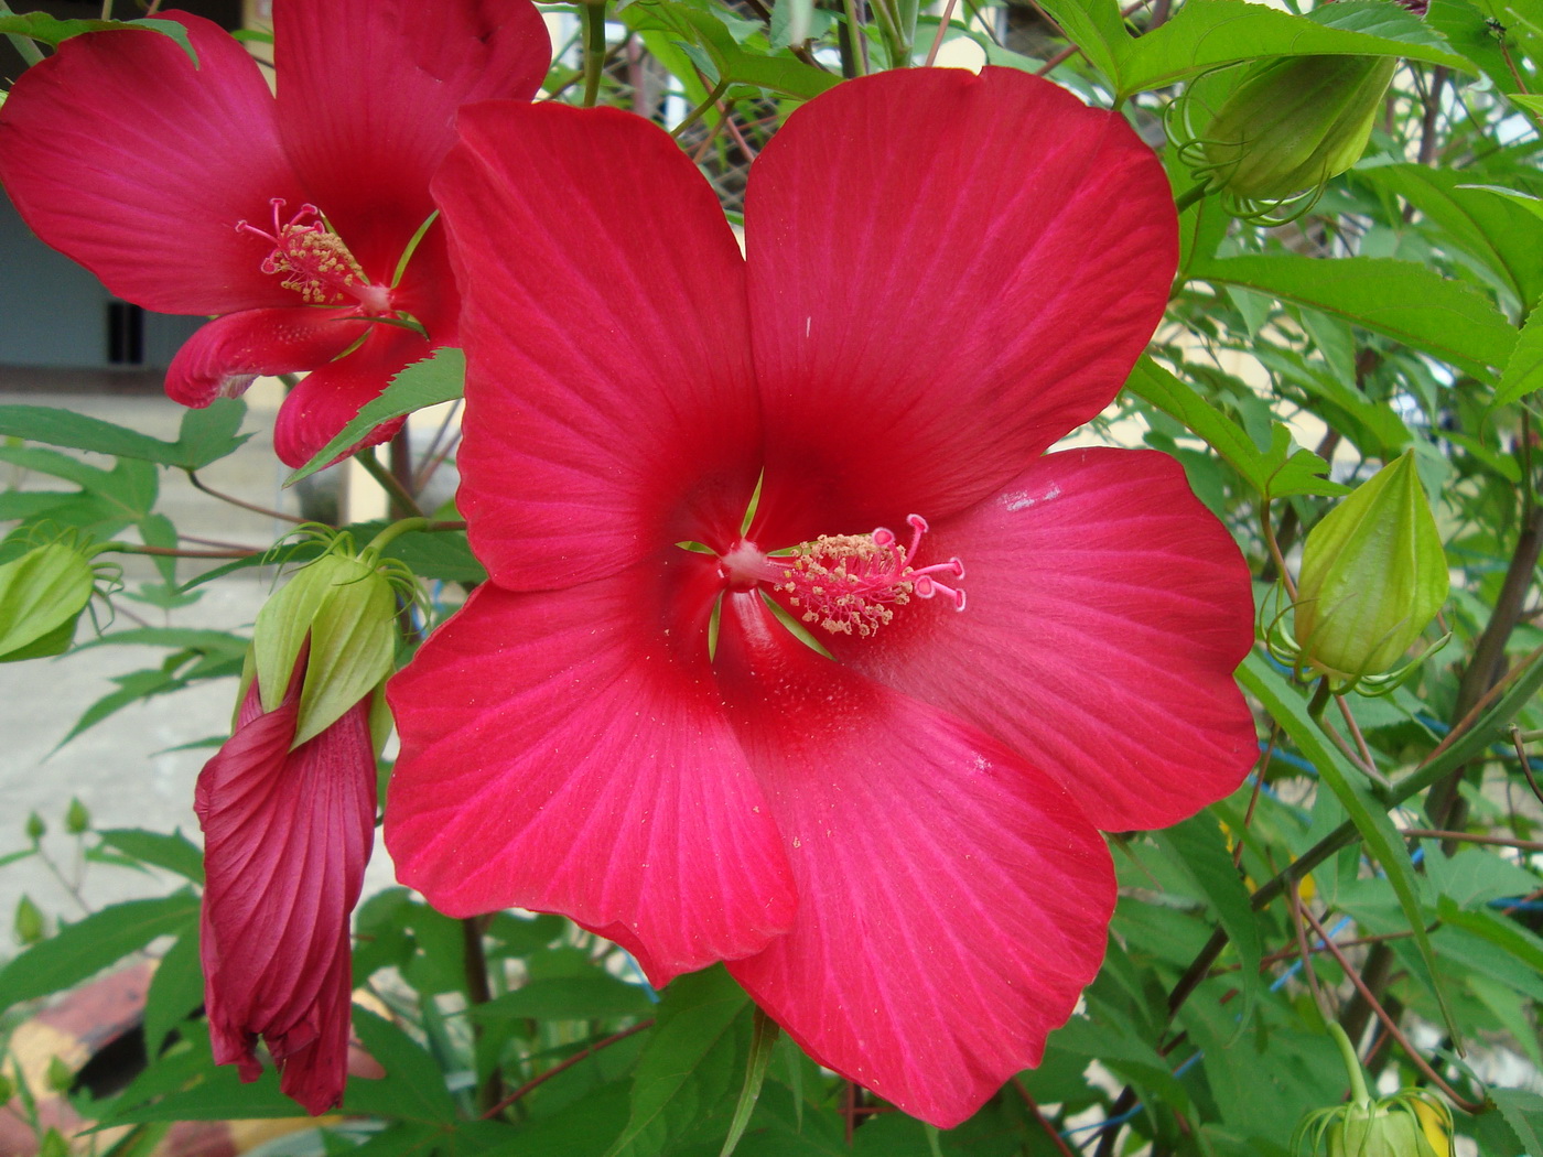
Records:
[[[0,108],[0,184],[113,293],[218,315],[173,359],[173,400],[312,370],[273,433],[299,466],[403,366],[455,344],[429,177],[457,106],[534,96],[551,43],[529,0],[275,0],[273,15],[276,99],[199,17],[168,17],[196,68],[154,32],[65,42]]]

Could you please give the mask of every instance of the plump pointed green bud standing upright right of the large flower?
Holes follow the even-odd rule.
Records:
[[[1308,532],[1296,583],[1298,662],[1349,683],[1381,674],[1446,595],[1441,535],[1407,450]]]

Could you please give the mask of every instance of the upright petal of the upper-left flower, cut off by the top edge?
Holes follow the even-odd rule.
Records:
[[[279,126],[312,201],[376,278],[434,211],[471,100],[529,100],[551,39],[529,0],[275,0]]]

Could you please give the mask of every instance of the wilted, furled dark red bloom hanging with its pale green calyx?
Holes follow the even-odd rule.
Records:
[[[418,520],[421,523],[421,520]],[[346,535],[258,614],[236,731],[199,774],[202,939],[214,1060],[262,1066],[313,1114],[343,1097],[349,913],[375,835],[375,691],[390,673],[397,586]]]

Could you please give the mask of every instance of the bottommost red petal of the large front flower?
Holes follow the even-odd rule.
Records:
[[[1006,748],[816,656],[753,594],[725,600],[717,663],[799,902],[730,970],[819,1063],[957,1125],[1097,973],[1103,841]]]

